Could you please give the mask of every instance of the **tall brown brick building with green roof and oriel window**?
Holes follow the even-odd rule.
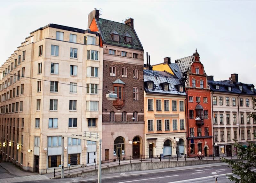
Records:
[[[133,19],[100,19],[95,9],[88,15],[88,27],[100,33],[103,47],[102,160],[144,155],[144,50]],[[111,91],[117,100],[106,99]]]

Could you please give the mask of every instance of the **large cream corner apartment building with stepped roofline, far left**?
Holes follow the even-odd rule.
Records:
[[[1,153],[24,170],[51,172],[97,161],[102,131],[103,51],[99,33],[49,24],[30,33],[1,66]],[[4,147],[5,143],[5,147]],[[10,144],[10,146],[9,146]]]

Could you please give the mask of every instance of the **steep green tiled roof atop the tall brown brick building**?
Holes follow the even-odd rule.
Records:
[[[132,49],[143,50],[140,40],[136,35],[136,32],[129,25],[114,22],[111,20],[99,19],[97,20],[98,26],[104,43],[112,44],[116,46],[123,46]],[[119,35],[119,42],[113,41],[110,36],[111,31],[115,31]],[[123,35],[127,33],[132,37],[132,44],[126,44]]]

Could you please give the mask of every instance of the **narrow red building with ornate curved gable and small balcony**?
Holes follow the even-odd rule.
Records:
[[[204,65],[196,51],[192,56],[175,60],[180,66],[187,93],[187,154],[212,156],[211,94]]]

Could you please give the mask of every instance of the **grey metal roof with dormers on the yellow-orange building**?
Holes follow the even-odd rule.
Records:
[[[148,90],[147,84],[144,84],[144,90],[146,93],[162,93],[162,94],[176,94],[186,95],[185,92],[179,92],[176,88],[177,85],[183,85],[179,78],[172,76],[164,71],[155,71],[144,69],[144,83],[147,81],[154,82],[153,90]],[[161,84],[169,83],[169,91],[164,91]]]

